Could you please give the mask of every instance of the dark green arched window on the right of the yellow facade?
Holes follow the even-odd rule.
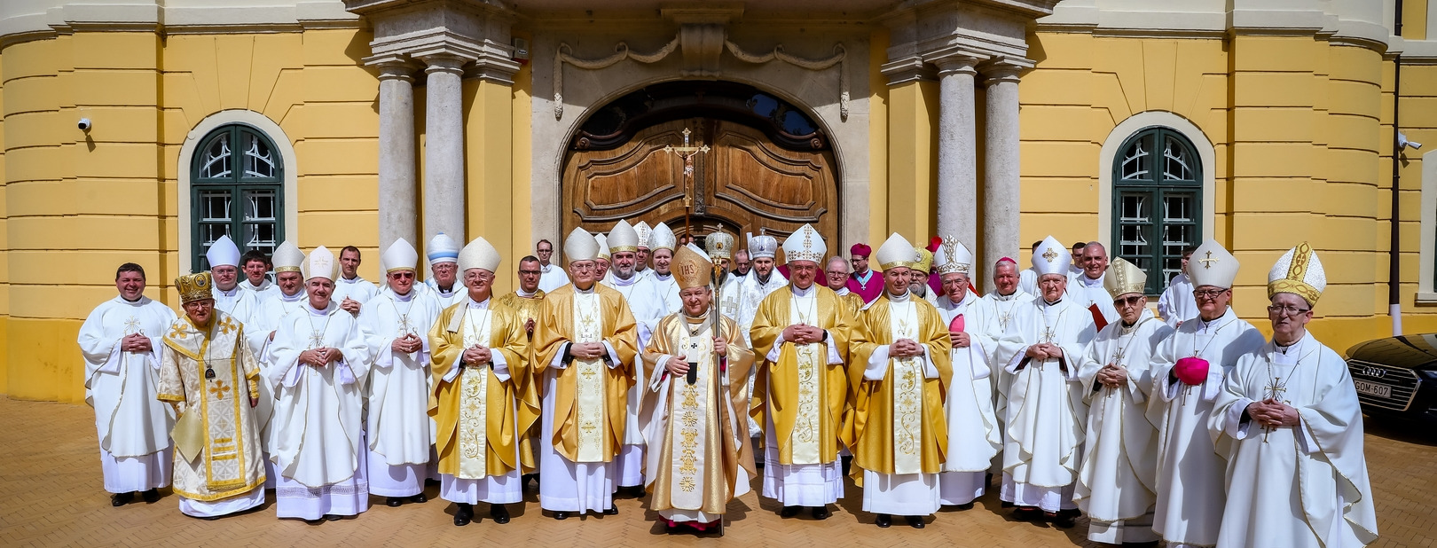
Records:
[[[1193,144],[1164,127],[1128,137],[1112,158],[1114,253],[1148,273],[1148,295],[1181,272],[1184,247],[1201,243],[1201,168]]]

